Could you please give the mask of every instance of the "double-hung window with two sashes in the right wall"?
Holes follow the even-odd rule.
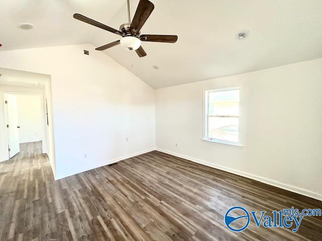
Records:
[[[205,141],[240,146],[239,88],[205,92]]]

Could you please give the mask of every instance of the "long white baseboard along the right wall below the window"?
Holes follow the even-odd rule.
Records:
[[[298,194],[301,194],[301,195],[304,195],[304,196],[308,196],[308,197],[311,197],[311,198],[315,198],[317,200],[322,201],[322,194],[312,192],[312,191],[304,189],[304,188],[300,188],[300,187],[296,187],[296,186],[293,186],[293,185],[281,183],[281,182],[278,182],[278,181],[275,181],[275,180],[272,180],[272,179],[269,179],[269,178],[266,178],[266,177],[261,177],[261,176],[253,175],[251,173],[238,171],[236,169],[224,167],[224,166],[221,166],[221,165],[217,165],[217,164],[214,164],[214,163],[210,163],[210,162],[207,162],[207,161],[204,161],[204,160],[189,157],[189,156],[182,155],[182,154],[179,154],[179,153],[167,151],[167,150],[164,150],[164,149],[156,148],[156,151],[163,152],[163,153],[166,153],[166,154],[170,154],[170,155],[180,157],[180,158],[183,158],[183,159],[187,159],[187,160],[192,161],[192,162],[196,162],[196,163],[208,166],[208,167],[213,167],[213,168],[216,168],[216,169],[219,169],[219,170],[222,170],[222,171],[230,172],[230,173],[242,176],[242,177],[247,177],[247,178],[250,178],[250,179],[254,179],[254,180],[259,181],[259,182],[263,182],[263,183],[266,183],[266,184],[269,184],[269,185],[272,185],[272,186],[275,186],[275,187],[279,187],[279,188],[282,188],[282,189],[285,189],[285,190],[288,190],[288,191],[291,191],[291,192],[295,192],[295,193],[298,193]]]

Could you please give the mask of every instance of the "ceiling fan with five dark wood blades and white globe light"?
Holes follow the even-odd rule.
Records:
[[[140,35],[140,30],[144,25],[145,21],[152,13],[153,9],[154,5],[150,1],[140,0],[133,20],[131,22],[130,3],[129,0],[127,0],[128,23],[122,24],[120,26],[119,31],[104,24],[101,24],[93,19],[87,18],[81,14],[74,14],[73,17],[77,20],[83,21],[85,23],[104,29],[122,37],[121,40],[117,40],[115,42],[103,45],[101,47],[96,48],[96,50],[106,50],[108,48],[121,44],[121,46],[126,48],[127,50],[135,50],[139,57],[144,57],[146,56],[146,53],[141,46],[141,41],[176,43],[178,39],[177,35]]]

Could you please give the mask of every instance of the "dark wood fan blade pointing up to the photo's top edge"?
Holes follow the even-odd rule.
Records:
[[[148,0],[140,0],[131,23],[131,33],[137,34],[154,9],[154,5]]]

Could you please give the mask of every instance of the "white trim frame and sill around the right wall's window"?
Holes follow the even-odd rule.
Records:
[[[243,145],[241,145],[241,143],[240,143],[240,136],[241,136],[240,135],[240,114],[238,114],[238,142],[231,142],[231,141],[218,140],[218,139],[214,139],[214,138],[208,138],[209,92],[222,92],[222,91],[229,91],[229,90],[239,90],[239,93],[240,93],[240,87],[203,90],[203,138],[201,140],[204,142],[212,143],[212,144],[225,145],[225,146],[234,147],[234,148],[243,148]],[[239,96],[239,103],[240,103],[240,96]]]

